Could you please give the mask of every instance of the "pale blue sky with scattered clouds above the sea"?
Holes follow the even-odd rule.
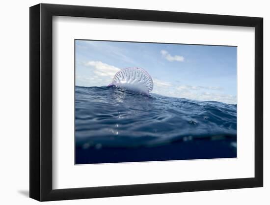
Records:
[[[107,86],[116,72],[140,67],[150,92],[237,104],[237,47],[76,40],[76,86]]]

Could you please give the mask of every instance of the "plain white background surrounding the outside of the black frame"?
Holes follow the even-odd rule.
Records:
[[[133,197],[71,200],[46,204],[270,204],[270,72],[266,71],[270,48],[270,13],[266,0],[43,0],[44,3],[78,4],[106,7],[182,11],[264,17],[264,67],[265,67],[265,180],[263,188],[189,192]],[[28,198],[29,186],[29,6],[38,0],[3,1],[0,9],[0,204],[38,204]],[[248,90],[247,90],[248,91]]]

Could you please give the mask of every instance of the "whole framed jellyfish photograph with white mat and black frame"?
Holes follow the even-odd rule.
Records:
[[[30,7],[30,197],[263,186],[263,18]]]

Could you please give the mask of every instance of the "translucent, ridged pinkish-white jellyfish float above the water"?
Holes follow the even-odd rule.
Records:
[[[131,67],[118,71],[108,87],[115,86],[131,90],[140,94],[149,95],[153,89],[151,76],[142,68]]]

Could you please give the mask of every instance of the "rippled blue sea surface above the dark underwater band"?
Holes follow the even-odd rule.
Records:
[[[236,105],[76,87],[75,108],[76,141],[82,148],[193,142],[213,136],[236,139]]]

